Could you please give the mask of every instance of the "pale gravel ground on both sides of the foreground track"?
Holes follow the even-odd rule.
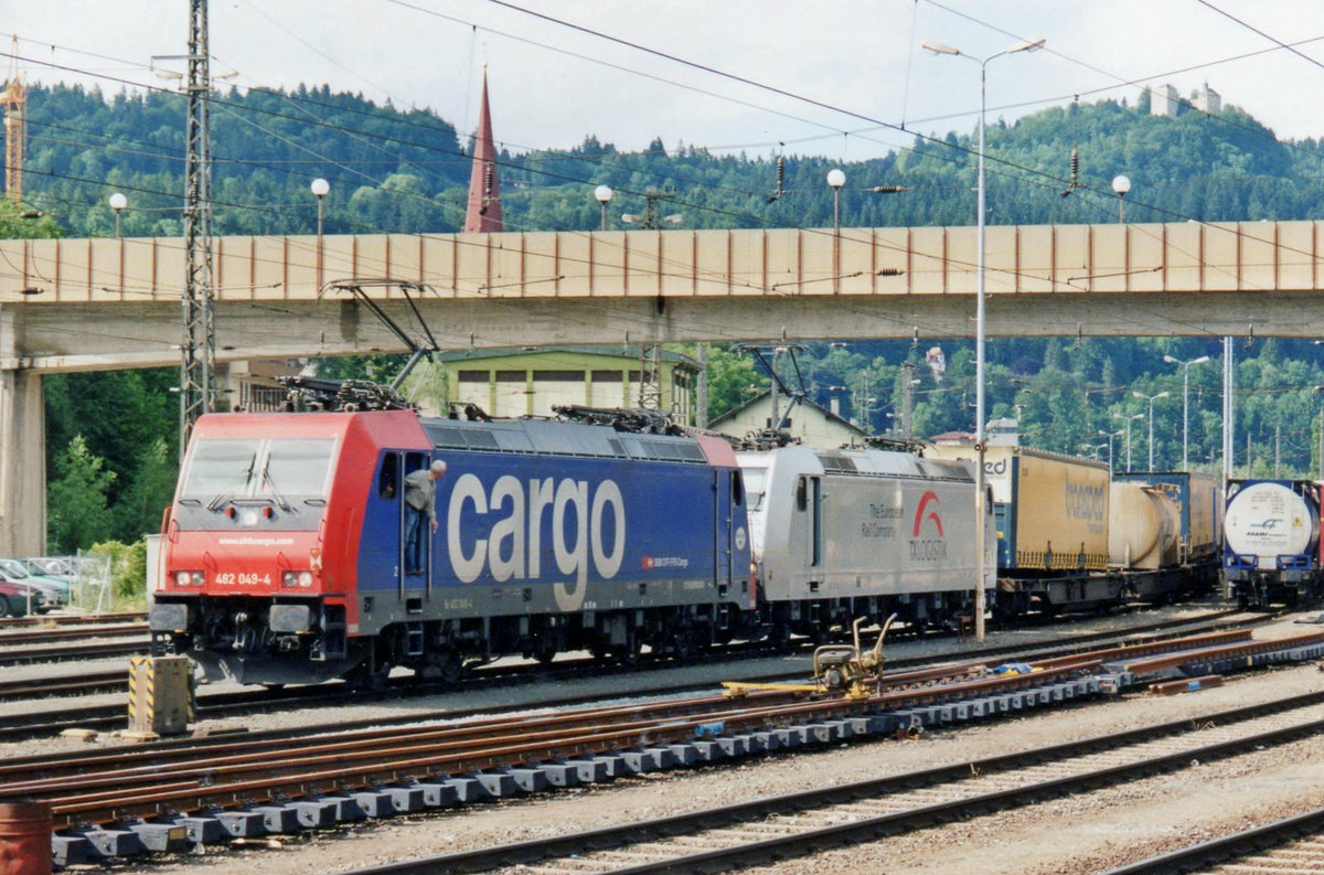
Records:
[[[1087,625],[1115,621],[1116,618],[1107,618]],[[1300,631],[1303,626],[1288,620],[1262,629],[1256,637]],[[903,649],[920,646],[900,645],[894,653],[900,655]],[[618,683],[628,688],[629,680]],[[1230,678],[1223,687],[1200,692],[1174,696],[1129,694],[1061,710],[1029,712],[1027,716],[929,731],[907,741],[866,741],[831,749],[801,751],[792,756],[751,759],[728,766],[671,770],[450,814],[369,822],[355,829],[282,837],[278,841],[262,839],[248,847],[232,843],[188,856],[120,864],[117,871],[162,875],[229,872],[245,867],[273,875],[347,871],[402,858],[564,834],[825,784],[960,762],[1143,724],[1196,720],[1235,706],[1321,688],[1324,672],[1315,665],[1256,671]],[[530,694],[536,691],[504,690],[482,695],[510,699]],[[543,694],[545,695],[545,690]],[[609,692],[604,691],[604,695]],[[401,703],[401,707],[414,704]],[[491,704],[495,706],[496,702]],[[388,708],[397,711],[396,707]],[[250,724],[253,728],[265,728],[282,721],[323,723],[334,719],[335,715],[324,711],[299,711],[253,717]],[[1102,871],[1160,850],[1185,846],[1321,805],[1324,739],[1316,737],[1226,761],[1192,764],[1172,774],[1115,789],[752,871],[765,875],[855,874],[884,868],[888,872],[978,871],[1031,875]]]

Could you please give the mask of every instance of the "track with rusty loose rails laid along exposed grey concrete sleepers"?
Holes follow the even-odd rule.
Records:
[[[1316,634],[1283,642],[1282,649],[1303,646],[1307,638],[1316,653],[1324,647],[1324,635]],[[192,831],[192,841],[211,843],[225,835],[299,831],[364,815],[532,792],[548,784],[610,780],[674,762],[903,732],[928,720],[993,716],[1055,699],[1096,695],[1104,684],[1100,672],[1107,674],[1100,667],[1104,661],[1117,666],[1112,671],[1127,672],[1135,666],[1161,665],[1170,659],[1170,651],[1185,650],[1189,665],[1215,658],[1246,665],[1247,653],[1263,647],[1263,642],[1223,633],[1042,661],[1033,674],[972,676],[970,667],[960,665],[949,666],[947,680],[939,683],[932,668],[895,672],[883,690],[862,700],[761,691],[739,700],[696,696],[408,728],[383,728],[375,721],[373,729],[344,732],[340,727],[338,733],[311,739],[246,735],[94,756],[28,757],[0,766],[0,794],[48,800],[61,829],[81,822],[123,823],[131,815],[199,813],[175,822],[90,830],[57,839],[65,842],[65,852],[74,842],[85,842],[105,855],[118,855],[131,852],[119,846],[126,837],[146,841],[143,835],[160,838],[177,831],[176,841],[185,843],[185,831]],[[1235,719],[1317,707],[1320,702],[1324,694],[1300,696],[1291,706],[1241,710],[1245,716]],[[1219,721],[1233,719],[1219,715]],[[1189,729],[1189,723],[1181,725]],[[1321,728],[1320,721],[1311,727]],[[1177,724],[1172,724],[1160,735],[1176,729]],[[1262,733],[1255,743],[1278,743],[1274,737]],[[1116,744],[1120,741],[1110,736],[1094,747]],[[1201,744],[1201,756],[1210,756],[1213,743]],[[1080,749],[1079,743],[1070,747]],[[1190,752],[1174,755],[1180,756],[1189,757]],[[996,761],[988,765],[994,768]],[[953,768],[968,773],[969,764]],[[236,802],[241,804],[237,810]],[[216,813],[218,807],[228,810]],[[99,843],[114,847],[106,850]]]

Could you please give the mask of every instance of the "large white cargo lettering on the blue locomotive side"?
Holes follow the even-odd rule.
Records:
[[[610,578],[625,559],[625,498],[614,481],[591,488],[588,481],[565,478],[557,483],[548,477],[522,483],[507,474],[489,491],[478,477],[465,474],[455,481],[446,512],[446,545],[455,577],[466,584],[485,572],[496,582],[540,578],[548,514],[556,571],[575,581],[556,584],[556,602],[561,610],[577,610],[584,604],[589,563],[600,577]],[[478,537],[483,531],[487,537]]]

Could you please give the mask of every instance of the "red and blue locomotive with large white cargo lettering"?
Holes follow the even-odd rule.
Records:
[[[434,459],[438,526],[412,569],[404,481]],[[755,600],[727,442],[575,421],[203,416],[164,553],[155,651],[246,683],[683,655],[735,634]]]

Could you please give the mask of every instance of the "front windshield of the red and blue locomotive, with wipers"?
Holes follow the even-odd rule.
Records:
[[[180,498],[324,496],[332,438],[205,438],[193,446]]]

